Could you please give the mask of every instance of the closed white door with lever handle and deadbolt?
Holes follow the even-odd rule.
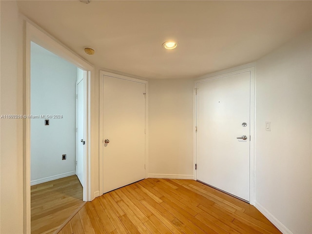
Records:
[[[196,179],[246,201],[250,78],[248,71],[196,83]]]

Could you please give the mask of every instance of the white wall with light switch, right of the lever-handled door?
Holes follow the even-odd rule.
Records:
[[[312,32],[256,62],[256,206],[285,233],[312,233],[311,81]]]

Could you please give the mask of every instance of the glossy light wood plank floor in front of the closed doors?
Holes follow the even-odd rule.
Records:
[[[194,180],[144,179],[104,194],[59,234],[281,234],[252,205]]]

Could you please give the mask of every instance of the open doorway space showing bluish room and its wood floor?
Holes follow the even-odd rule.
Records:
[[[55,231],[83,204],[86,72],[33,41],[30,55],[31,233],[36,234]]]

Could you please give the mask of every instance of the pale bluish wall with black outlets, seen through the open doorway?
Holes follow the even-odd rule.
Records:
[[[76,174],[77,67],[31,43],[31,181],[38,184]],[[62,155],[66,154],[66,160]]]

